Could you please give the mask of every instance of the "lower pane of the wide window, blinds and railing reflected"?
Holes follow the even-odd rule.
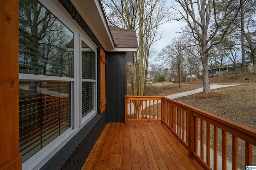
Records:
[[[19,93],[24,162],[71,127],[70,82],[20,81]]]

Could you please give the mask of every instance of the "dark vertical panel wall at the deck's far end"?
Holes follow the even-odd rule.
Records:
[[[126,95],[126,53],[108,53],[106,110],[107,122],[124,122],[124,96]]]

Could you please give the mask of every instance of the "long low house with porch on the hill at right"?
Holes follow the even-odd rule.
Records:
[[[218,65],[214,68],[209,68],[209,76],[210,77],[216,77],[223,75],[223,73],[228,72],[241,72],[243,71],[243,65],[242,63],[235,63],[230,65]],[[246,61],[246,71],[247,72],[253,72],[253,62],[252,61]]]

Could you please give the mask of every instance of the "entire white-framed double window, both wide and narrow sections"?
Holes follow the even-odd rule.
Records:
[[[50,10],[36,0],[20,0],[19,9],[20,155],[26,166],[63,146],[97,108],[96,45],[58,1],[40,2]]]

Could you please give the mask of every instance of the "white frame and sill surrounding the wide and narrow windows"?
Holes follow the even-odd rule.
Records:
[[[56,77],[47,75],[32,75],[19,73],[19,80],[36,81],[69,81],[71,82],[71,127],[39,150],[22,164],[22,169],[40,169],[60,148],[62,148],[94,115],[97,113],[97,45],[89,38],[82,28],[72,19],[70,14],[58,1],[38,0],[62,24],[74,34],[74,78]],[[94,82],[94,110],[82,119],[82,65],[81,65],[81,40],[94,52],[96,59],[96,79]],[[84,81],[84,79],[83,79]],[[92,82],[90,80],[90,82]]]

